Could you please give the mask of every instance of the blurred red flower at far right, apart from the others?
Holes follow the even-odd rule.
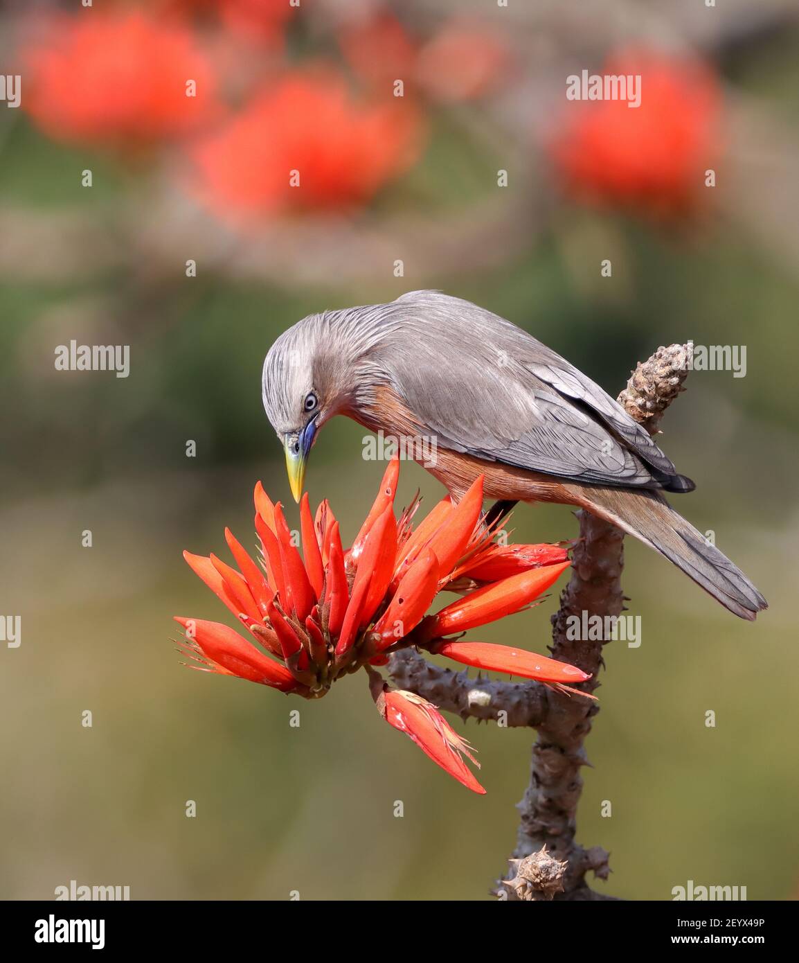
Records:
[[[721,147],[721,94],[709,67],[639,50],[613,57],[602,74],[639,75],[640,106],[568,104],[551,145],[566,191],[655,216],[700,206]]]

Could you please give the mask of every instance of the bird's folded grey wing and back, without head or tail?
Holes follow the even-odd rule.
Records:
[[[391,380],[439,444],[574,481],[681,486],[647,432],[554,351],[468,301],[420,294]]]

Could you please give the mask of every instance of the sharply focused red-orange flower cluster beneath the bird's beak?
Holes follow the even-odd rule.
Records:
[[[271,503],[259,482],[255,528],[263,567],[228,530],[225,539],[238,569],[215,555],[184,556],[260,648],[219,623],[178,618],[186,629],[182,648],[197,663],[194,667],[306,698],[320,698],[337,679],[364,668],[380,714],[465,786],[482,792],[462,759],[466,755],[474,762],[467,743],[424,699],[389,689],[374,666],[386,664],[390,653],[415,645],[462,664],[578,691],[565,684],[579,684],[589,676],[574,665],[503,645],[444,638],[526,608],[569,562],[557,546],[523,545],[511,551],[495,544],[496,531],[489,532],[480,518],[482,478],[457,505],[444,499],[413,530],[417,500],[399,520],[394,514],[398,478],[395,458],[347,552],[327,503],[312,517],[308,496],[303,495],[302,555],[283,508]],[[503,575],[503,560],[512,560],[515,574],[488,581],[425,617],[439,591],[458,588],[464,573],[477,572],[481,579],[492,570]],[[467,582],[475,585],[471,578]]]

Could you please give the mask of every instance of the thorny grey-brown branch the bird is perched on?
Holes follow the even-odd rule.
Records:
[[[619,403],[651,434],[660,418],[683,391],[692,345],[659,348],[631,373]],[[580,539],[572,560],[572,577],[553,615],[554,659],[579,665],[592,678],[582,687],[599,686],[602,647],[607,639],[568,638],[570,615],[618,616],[624,610],[621,573],[624,534],[600,518],[579,511]],[[530,783],[517,808],[521,814],[516,847],[507,876],[495,894],[503,899],[606,899],[589,889],[587,872],[606,879],[607,853],[600,846],[585,849],[575,841],[577,806],[582,791],[580,769],[588,765],[585,738],[599,706],[587,699],[568,697],[538,683],[512,684],[469,679],[426,663],[412,651],[392,658],[395,682],[463,718],[496,719],[507,713],[508,725],[537,728],[532,747]]]

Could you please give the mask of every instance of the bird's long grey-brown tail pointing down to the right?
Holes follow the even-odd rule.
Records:
[[[658,492],[580,485],[575,502],[657,549],[730,612],[754,620],[768,608],[743,572]]]

